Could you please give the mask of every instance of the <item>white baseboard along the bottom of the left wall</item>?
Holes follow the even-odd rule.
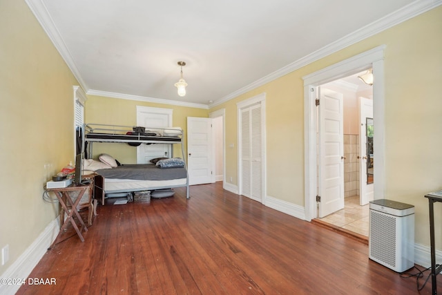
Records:
[[[44,256],[48,247],[52,244],[52,241],[57,238],[60,231],[60,218],[57,216],[52,220],[43,232],[32,242],[32,244],[26,249],[21,256],[8,269],[1,274],[0,278],[15,278],[26,280],[32,269],[39,263],[40,259]],[[0,284],[0,294],[13,295],[15,294],[20,285],[3,285]]]

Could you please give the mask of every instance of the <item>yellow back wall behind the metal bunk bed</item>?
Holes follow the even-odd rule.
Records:
[[[173,106],[170,104],[157,104],[140,102],[135,100],[117,99],[88,95],[86,102],[86,123],[115,124],[135,126],[137,124],[137,106],[150,106],[154,108],[171,108],[173,110],[172,124],[184,130],[184,154],[186,154],[186,130],[187,117],[208,117],[209,112],[203,108],[191,108],[188,106]],[[93,158],[100,153],[108,153],[123,164],[135,164],[137,162],[137,148],[128,144],[94,143]],[[180,144],[173,145],[173,155],[183,158]],[[186,159],[184,157],[184,159]]]

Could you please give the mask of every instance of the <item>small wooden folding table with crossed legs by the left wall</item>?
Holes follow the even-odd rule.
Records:
[[[83,235],[81,235],[81,231],[88,231],[88,228],[83,222],[83,219],[79,215],[77,211],[77,207],[79,205],[79,202],[81,201],[81,198],[83,197],[84,193],[88,190],[90,190],[91,184],[70,184],[69,187],[59,188],[59,189],[46,189],[47,191],[53,191],[55,193],[55,196],[57,196],[62,211],[61,216],[62,219],[64,219],[64,213],[68,213],[68,217],[66,220],[62,220],[61,222],[61,228],[59,231],[59,234],[57,238],[55,238],[54,242],[52,242],[52,245],[48,249],[52,249],[52,247],[57,244],[58,242],[61,242],[63,240],[59,240],[61,235],[64,233],[64,229],[68,226],[68,223],[70,222],[75,231],[77,232],[77,235],[79,236],[81,242],[84,242]],[[78,196],[75,202],[70,196],[70,193],[77,192]],[[77,223],[75,222],[74,216],[77,217],[77,220],[79,222],[79,225],[81,225],[81,229],[79,229]]]

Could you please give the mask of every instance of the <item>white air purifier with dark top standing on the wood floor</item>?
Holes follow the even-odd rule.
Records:
[[[405,272],[414,266],[414,206],[392,200],[369,203],[369,258]]]

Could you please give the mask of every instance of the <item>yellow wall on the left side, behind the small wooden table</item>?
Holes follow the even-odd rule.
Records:
[[[74,160],[78,82],[24,1],[0,1],[0,40],[0,248],[10,254],[1,274],[57,216],[41,196]]]

